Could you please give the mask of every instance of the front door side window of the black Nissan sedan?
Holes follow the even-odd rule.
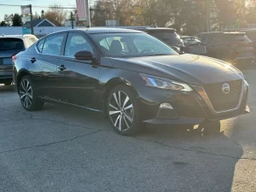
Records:
[[[93,49],[86,38],[78,33],[69,33],[64,55],[74,57],[75,53],[80,50],[88,50],[93,52]]]

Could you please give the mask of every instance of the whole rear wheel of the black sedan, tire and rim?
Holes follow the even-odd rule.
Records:
[[[44,101],[38,98],[32,79],[28,75],[20,79],[19,90],[21,105],[27,111],[37,111],[44,107]]]

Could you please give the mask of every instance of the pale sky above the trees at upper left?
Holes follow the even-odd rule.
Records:
[[[89,4],[94,2],[95,0],[89,0]],[[0,0],[0,4],[15,4],[15,5],[27,5],[32,4],[32,14],[34,15],[36,12],[40,15],[41,10],[47,10],[49,5],[59,4],[61,7],[76,7],[76,0]],[[43,6],[45,8],[38,8],[34,6]],[[68,9],[67,9],[68,10]],[[3,20],[3,15],[10,14],[21,14],[20,7],[9,7],[5,5],[0,5],[0,20]]]

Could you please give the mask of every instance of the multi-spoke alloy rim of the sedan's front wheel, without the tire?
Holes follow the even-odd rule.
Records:
[[[124,91],[118,90],[113,93],[108,103],[108,115],[113,126],[119,131],[130,129],[134,119],[133,104]]]

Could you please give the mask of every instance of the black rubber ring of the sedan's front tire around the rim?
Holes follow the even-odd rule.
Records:
[[[134,110],[133,122],[131,123],[129,130],[127,130],[127,131],[119,131],[119,129],[113,125],[112,119],[109,116],[109,106],[108,106],[109,102],[111,100],[111,97],[113,96],[113,93],[117,92],[119,90],[123,91],[127,96],[129,96],[131,103],[133,105],[133,110]],[[117,131],[120,135],[123,135],[123,136],[131,136],[131,135],[136,134],[138,125],[140,124],[138,102],[137,102],[136,95],[128,87],[126,87],[125,85],[118,85],[118,86],[114,87],[108,94],[106,108],[107,108],[106,112],[107,112],[107,116],[108,116],[108,121],[109,121],[110,125],[112,125],[114,131]]]

